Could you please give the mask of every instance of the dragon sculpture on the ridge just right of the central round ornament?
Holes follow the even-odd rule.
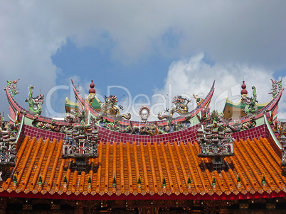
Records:
[[[175,112],[179,113],[180,115],[182,113],[188,113],[189,111],[188,103],[191,103],[191,100],[188,98],[183,98],[181,95],[178,95],[173,98],[173,103],[175,104],[175,106],[171,108],[169,116],[159,112],[158,114],[159,120],[163,120],[164,118],[167,119],[169,117],[173,117]],[[165,113],[166,112],[167,111],[165,110]]]

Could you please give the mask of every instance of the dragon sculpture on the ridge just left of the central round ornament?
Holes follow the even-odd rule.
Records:
[[[103,113],[107,113],[108,115],[112,116],[120,116],[120,110],[117,108],[117,96],[115,95],[110,95],[110,96],[105,96],[105,102],[101,104],[101,111]],[[129,120],[131,118],[131,114],[127,113],[121,115],[122,118],[125,118]]]

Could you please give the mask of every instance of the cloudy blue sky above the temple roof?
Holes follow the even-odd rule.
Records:
[[[285,8],[286,1],[263,0],[0,0],[0,88],[20,79],[14,98],[28,109],[33,84],[48,117],[65,115],[66,96],[74,101],[70,79],[83,96],[93,79],[97,97],[115,94],[132,120],[142,105],[155,120],[174,96],[203,98],[213,81],[213,110],[223,111],[226,96],[238,101],[243,80],[248,96],[254,85],[266,103],[270,79],[286,85]],[[0,100],[6,115],[5,91]]]

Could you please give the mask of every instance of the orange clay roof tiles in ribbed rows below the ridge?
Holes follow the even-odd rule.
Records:
[[[135,142],[123,145],[102,142],[98,145],[99,156],[88,161],[87,169],[78,172],[73,169],[73,159],[62,159],[63,141],[26,136],[18,150],[16,166],[11,168],[11,174],[1,184],[1,193],[33,193],[51,196],[56,194],[66,196],[216,196],[245,195],[247,193],[279,193],[285,191],[285,176],[280,167],[280,157],[272,149],[270,142],[264,138],[259,140],[240,140],[233,142],[233,157],[225,157],[226,167],[219,173],[210,171],[210,158],[197,156],[198,144],[191,145],[174,142],[150,142],[137,145]],[[16,174],[17,184],[13,181]],[[240,183],[237,178],[240,174]],[[39,176],[42,185],[38,184]],[[67,182],[64,182],[66,176]],[[113,178],[116,187],[112,186]],[[140,186],[138,179],[141,179]],[[266,184],[261,184],[265,176]],[[91,183],[88,183],[88,179]],[[191,179],[191,186],[188,179]],[[162,186],[163,178],[166,188]],[[212,185],[213,178],[216,186]],[[250,194],[251,195],[251,194]],[[49,196],[49,197],[51,197]]]

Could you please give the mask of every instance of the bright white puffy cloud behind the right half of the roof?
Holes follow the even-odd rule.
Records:
[[[164,95],[169,101],[179,94],[185,94],[189,97],[192,97],[192,94],[198,94],[201,98],[204,98],[210,91],[213,80],[216,80],[211,109],[223,111],[226,96],[233,102],[238,101],[240,98],[240,85],[244,79],[248,96],[253,97],[251,86],[254,85],[257,90],[258,103],[266,103],[272,99],[268,92],[271,89],[270,79],[274,79],[273,72],[241,64],[215,64],[211,67],[203,62],[203,57],[203,54],[198,54],[187,60],[173,62],[169,67],[164,89],[157,90],[156,94]],[[282,96],[280,103],[281,116],[285,116],[286,112],[285,105],[283,105],[284,97]],[[154,98],[152,104],[155,103],[162,103],[161,98]],[[159,106],[154,110],[154,113],[163,111],[166,107],[171,108],[172,104],[170,104],[170,102],[166,102],[166,106]],[[194,102],[189,106],[191,109],[195,107],[196,103]]]

